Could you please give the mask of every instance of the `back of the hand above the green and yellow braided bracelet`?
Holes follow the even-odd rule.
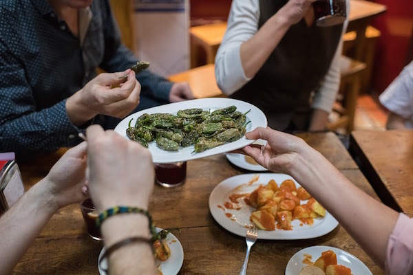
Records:
[[[99,125],[89,126],[86,133],[89,192],[96,208],[146,209],[155,173],[151,153],[114,131],[103,131]]]

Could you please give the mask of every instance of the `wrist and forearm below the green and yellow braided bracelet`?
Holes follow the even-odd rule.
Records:
[[[105,246],[131,236],[150,238],[149,222],[142,214],[119,214],[107,219],[102,225]],[[124,245],[109,256],[110,274],[156,274],[155,259],[148,243],[136,242]]]

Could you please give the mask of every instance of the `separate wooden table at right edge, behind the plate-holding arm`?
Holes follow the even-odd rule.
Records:
[[[413,213],[413,131],[353,131],[350,150],[381,201]]]

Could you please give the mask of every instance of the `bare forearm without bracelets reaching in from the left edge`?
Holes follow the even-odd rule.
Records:
[[[21,256],[56,212],[45,191],[45,180],[34,185],[0,219],[0,270],[11,274]]]

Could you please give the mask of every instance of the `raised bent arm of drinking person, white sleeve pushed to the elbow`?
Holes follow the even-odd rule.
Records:
[[[251,80],[313,1],[288,1],[260,30],[259,1],[233,1],[228,27],[215,58],[215,77],[220,89],[233,94]]]

